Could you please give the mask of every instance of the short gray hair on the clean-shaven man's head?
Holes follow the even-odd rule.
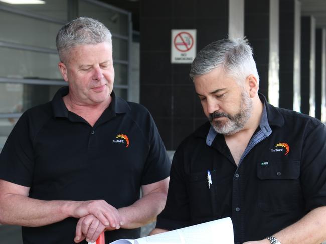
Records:
[[[56,44],[61,61],[66,52],[77,45],[108,42],[112,46],[112,35],[105,25],[93,18],[80,17],[64,25],[57,34]]]

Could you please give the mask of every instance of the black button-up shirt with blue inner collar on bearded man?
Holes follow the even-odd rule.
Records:
[[[260,126],[238,167],[224,136],[209,122],[181,143],[157,228],[231,217],[235,243],[243,243],[272,235],[326,205],[325,126],[260,98],[265,104]]]

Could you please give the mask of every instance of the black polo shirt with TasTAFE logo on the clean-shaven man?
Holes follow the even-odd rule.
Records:
[[[41,200],[104,199],[116,208],[139,199],[141,185],[169,176],[170,161],[148,110],[115,97],[91,127],[67,110],[61,88],[52,102],[26,111],[0,154],[0,178],[31,187]],[[23,227],[24,243],[74,243],[78,219]],[[139,238],[140,229],[106,232],[106,242]],[[83,243],[86,243],[85,241]]]

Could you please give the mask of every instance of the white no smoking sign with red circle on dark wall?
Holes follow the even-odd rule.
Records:
[[[192,63],[196,55],[196,29],[171,30],[171,63]]]

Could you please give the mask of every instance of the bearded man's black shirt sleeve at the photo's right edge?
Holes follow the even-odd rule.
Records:
[[[301,188],[307,211],[326,205],[326,128],[307,129],[301,156]]]

